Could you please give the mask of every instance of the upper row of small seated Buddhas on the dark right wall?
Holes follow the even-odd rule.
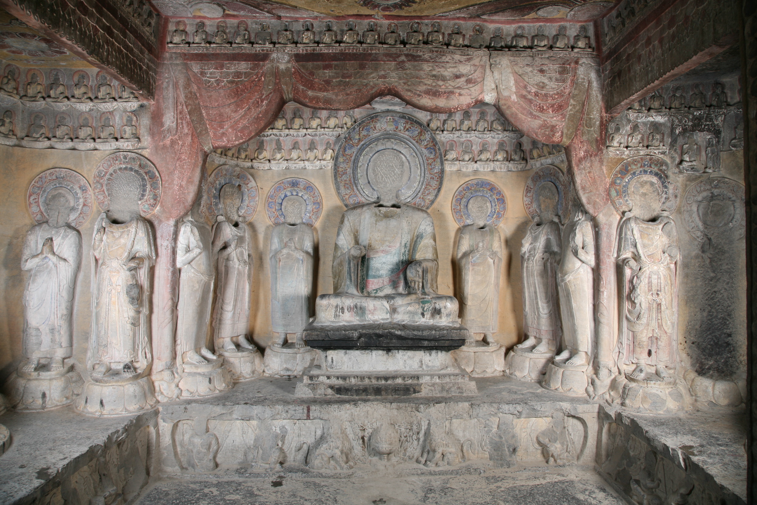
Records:
[[[688,94],[688,86],[671,86],[670,94],[663,95],[663,89],[658,88],[652,95],[641,98],[628,107],[631,112],[662,112],[662,111],[701,111],[707,108],[724,108],[731,103],[722,83],[712,83],[711,93],[703,91],[702,84],[694,84]]]

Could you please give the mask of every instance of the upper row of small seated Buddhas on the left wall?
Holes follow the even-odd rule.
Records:
[[[124,84],[114,86],[104,73],[100,73],[97,77],[96,86],[89,86],[89,74],[86,72],[76,73],[73,77],[73,88],[70,91],[64,83],[65,76],[61,72],[54,70],[50,77],[51,83],[45,86],[42,71],[33,70],[26,73],[27,80],[21,88],[19,88],[18,73],[13,65],[5,68],[5,73],[0,79],[0,93],[23,101],[139,101],[132,89]]]

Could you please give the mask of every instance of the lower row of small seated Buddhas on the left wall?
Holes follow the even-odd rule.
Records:
[[[137,119],[131,112],[124,112],[118,126],[112,114],[102,114],[100,126],[90,114],[80,114],[79,126],[71,124],[68,114],[58,114],[55,126],[48,128],[45,114],[34,114],[32,122],[26,127],[26,134],[18,132],[14,123],[14,112],[5,111],[0,118],[0,137],[6,139],[30,140],[36,142],[139,142]],[[21,131],[24,131],[23,126]]]

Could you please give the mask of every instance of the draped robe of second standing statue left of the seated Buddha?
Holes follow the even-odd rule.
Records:
[[[247,335],[250,326],[251,242],[247,225],[220,221],[213,229],[213,251],[218,252],[218,287],[213,313],[215,341]],[[224,254],[226,249],[232,249]]]

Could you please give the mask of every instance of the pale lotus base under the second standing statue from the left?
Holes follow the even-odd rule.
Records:
[[[88,416],[124,416],[150,410],[156,404],[152,381],[142,377],[120,383],[89,380],[74,407]]]

